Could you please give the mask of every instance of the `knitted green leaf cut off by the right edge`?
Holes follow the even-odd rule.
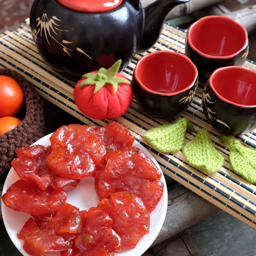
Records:
[[[256,183],[256,150],[247,148],[234,137],[223,136],[221,142],[229,145],[230,164],[234,172],[245,180]]]

